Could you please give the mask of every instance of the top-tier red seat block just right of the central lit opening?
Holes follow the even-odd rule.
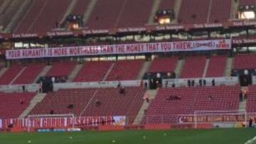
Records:
[[[178,23],[206,23],[210,0],[183,0],[178,13]]]

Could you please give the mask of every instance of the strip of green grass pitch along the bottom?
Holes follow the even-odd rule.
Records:
[[[256,128],[170,131],[0,133],[1,144],[244,144]]]

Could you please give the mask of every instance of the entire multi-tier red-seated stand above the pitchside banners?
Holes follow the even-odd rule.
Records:
[[[74,113],[177,124],[195,111],[256,112],[256,21],[239,18],[255,15],[256,0],[29,1],[0,0],[0,120]],[[241,79],[245,69],[252,77]]]

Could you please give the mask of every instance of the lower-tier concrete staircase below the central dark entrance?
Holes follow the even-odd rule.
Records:
[[[149,103],[151,99],[154,99],[156,97],[156,89],[149,89],[146,91],[147,94],[149,94]],[[142,121],[142,118],[144,116],[144,111],[148,109],[149,103],[146,101],[143,102],[141,109],[139,109],[139,113],[137,114],[136,118],[134,119],[134,125],[139,125],[139,123]]]

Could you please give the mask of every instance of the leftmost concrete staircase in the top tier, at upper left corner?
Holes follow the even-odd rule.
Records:
[[[21,21],[23,16],[28,11],[29,7],[33,4],[32,0],[23,0],[22,5],[19,7],[18,11],[16,11],[14,17],[11,19],[10,23],[4,29],[5,33],[11,33],[14,31],[18,23]]]

